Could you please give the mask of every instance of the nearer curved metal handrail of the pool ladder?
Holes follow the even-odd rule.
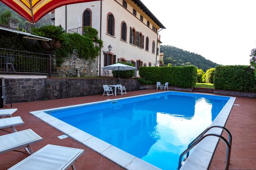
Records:
[[[179,158],[179,164],[178,164],[178,170],[180,170],[181,168],[181,160],[183,158],[183,156],[189,152],[191,149],[193,149],[199,142],[201,142],[204,138],[208,137],[208,136],[215,136],[218,137],[219,139],[222,139],[224,141],[224,143],[227,145],[228,147],[228,154],[227,154],[227,158],[226,158],[226,166],[225,166],[225,170],[228,170],[229,168],[229,162],[230,162],[230,153],[231,153],[231,147],[228,143],[228,141],[222,137],[221,135],[218,135],[216,133],[206,133],[203,136],[201,136],[197,141],[195,141],[194,143],[192,143],[192,145],[190,145],[190,147],[188,147],[188,149],[186,149],[184,152],[182,152],[182,154],[180,154],[180,158]]]

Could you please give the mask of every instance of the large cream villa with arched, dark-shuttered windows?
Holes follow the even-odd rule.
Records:
[[[158,32],[165,27],[140,0],[71,4],[57,8],[52,19],[69,33],[82,33],[83,26],[98,30],[104,42],[98,57],[99,75],[103,66],[117,62],[126,61],[137,68],[159,66]]]

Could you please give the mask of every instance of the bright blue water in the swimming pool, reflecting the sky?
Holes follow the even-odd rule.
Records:
[[[228,100],[166,92],[48,112],[161,169],[176,170],[179,155]]]

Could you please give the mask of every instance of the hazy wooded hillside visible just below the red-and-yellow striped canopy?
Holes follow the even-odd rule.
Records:
[[[6,9],[8,9],[8,10],[10,10],[10,12],[12,12],[13,18],[16,18],[17,20],[19,20],[20,27],[26,28],[27,20],[22,18],[22,16],[20,16],[16,12],[14,12],[14,10],[12,10],[11,8],[9,8],[8,6],[6,6],[5,4],[0,2],[0,13]],[[45,15],[43,18],[41,18],[39,21],[36,22],[36,27],[41,27],[42,25],[51,25],[52,21],[50,18],[51,18],[51,14]]]

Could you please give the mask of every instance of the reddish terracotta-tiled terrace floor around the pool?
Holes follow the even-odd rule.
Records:
[[[160,91],[161,90],[141,90],[128,92],[127,95],[123,96],[118,95],[107,97],[96,95],[13,104],[13,108],[18,108],[18,111],[14,113],[14,116],[20,116],[25,122],[24,125],[17,126],[16,129],[18,131],[32,129],[43,138],[43,141],[32,145],[32,149],[34,151],[41,149],[47,144],[84,149],[84,154],[76,162],[77,170],[121,170],[123,168],[77,141],[71,138],[59,139],[58,136],[63,135],[63,133],[31,115],[29,112],[41,109],[97,102],[106,99],[137,96]],[[233,136],[230,170],[256,170],[256,155],[254,154],[256,152],[256,98],[237,97],[235,104],[239,104],[240,106],[234,106],[232,108],[230,117],[228,118],[226,124],[226,127],[230,130]],[[0,135],[5,134],[7,133],[0,131]],[[1,154],[0,170],[6,170],[12,167],[14,164],[17,164],[27,156],[28,154],[14,151]],[[225,156],[226,147],[224,146],[224,143],[220,142],[214,154],[210,169],[224,169]]]

